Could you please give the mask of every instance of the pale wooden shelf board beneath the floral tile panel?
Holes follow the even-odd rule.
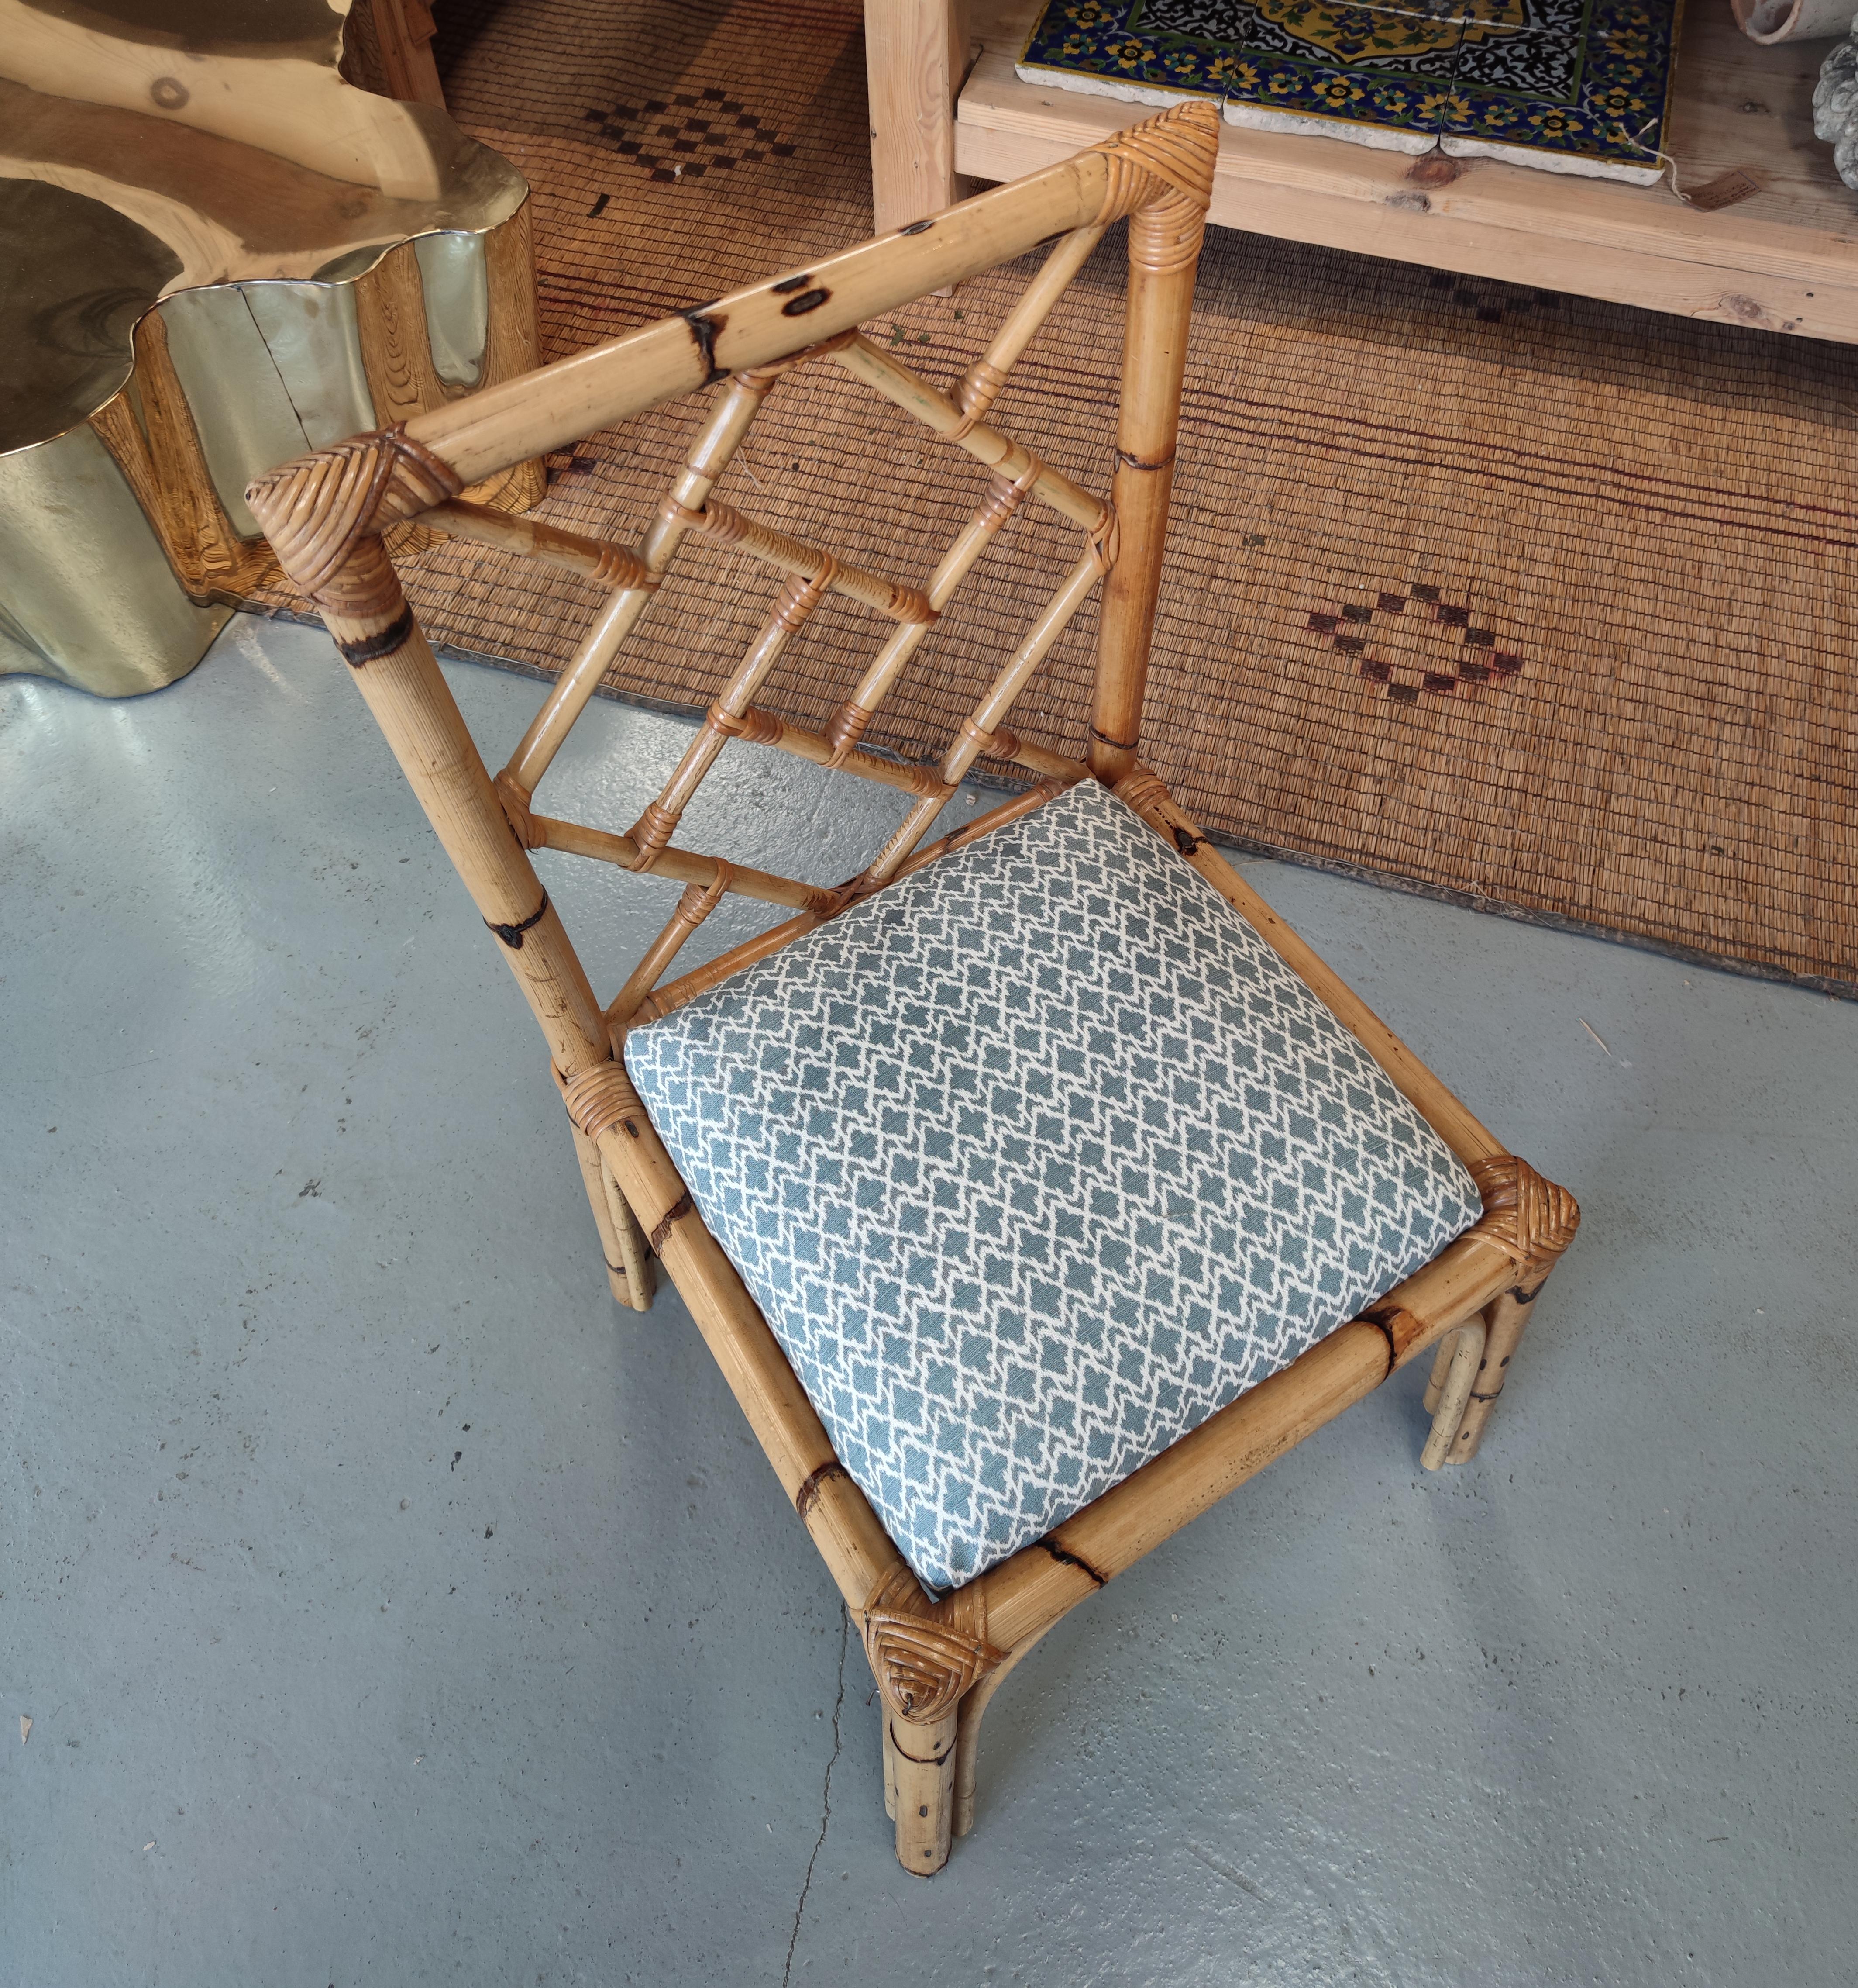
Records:
[[[1009,0],[976,22],[982,56],[956,109],[956,167],[1015,179],[1153,115],[1013,76],[1035,8]],[[1604,296],[1647,310],[1858,344],[1858,193],[1812,135],[1812,85],[1830,42],[1759,48],[1729,0],[1689,0],[1677,52],[1671,155],[1685,191],[1741,167],[1761,185],[1715,213],[1669,185],[1455,161],[1449,185],[1415,181],[1407,153],[1327,137],[1220,139],[1212,219],[1433,268]],[[1441,161],[1427,157],[1425,171]]]

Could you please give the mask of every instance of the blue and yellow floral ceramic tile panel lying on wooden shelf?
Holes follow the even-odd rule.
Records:
[[[1681,0],[1049,0],[1019,76],[1393,151],[1657,179]]]

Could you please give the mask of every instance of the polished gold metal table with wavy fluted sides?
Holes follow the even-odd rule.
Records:
[[[525,181],[346,83],[344,16],[0,0],[0,674],[171,682],[256,473],[535,362]]]

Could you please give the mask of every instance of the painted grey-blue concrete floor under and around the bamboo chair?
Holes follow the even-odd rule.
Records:
[[[495,763],[537,686],[451,678]],[[560,811],[684,736],[596,706]],[[729,759],[703,847],[890,819]],[[1117,1580],[922,1883],[326,638],[6,682],[0,847],[0,1982],[1852,1980],[1858,1006],[1252,865],[1586,1225],[1472,1467],[1411,1372]],[[546,861],[610,988],[670,887]]]

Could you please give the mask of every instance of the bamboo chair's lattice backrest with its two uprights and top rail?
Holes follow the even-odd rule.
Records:
[[[1218,115],[1186,103],[1091,151],[998,187],[894,235],[805,270],[680,312],[610,344],[544,366],[391,429],[318,449],[248,491],[284,571],[318,606],[401,769],[477,901],[570,1085],[610,1064],[630,1020],[662,1014],[751,958],[763,958],[856,897],[986,833],[1063,785],[1137,769],[1155,596],[1194,266],[1212,189]],[[1107,497],[1043,463],[986,415],[1007,370],[1119,219],[1129,219],[1129,302]],[[986,354],[942,394],[858,332],[918,296],[1053,241],[1041,270]],[[868,573],[757,523],[711,491],[769,392],[795,366],[845,368],[934,435],[992,469],[980,507],[924,586]],[[638,547],[558,531],[461,501],[459,491],[525,457],[608,427],[660,402],[721,386],[682,475]],[[860,746],[866,726],[924,636],[1013,513],[1047,505],[1079,533],[1075,565],[1002,664],[936,765],[902,765]],[[509,765],[491,779],[457,704],[401,594],[382,533],[417,519],[439,533],[523,553],[612,588],[594,626],[548,692]],[[729,545],[785,575],[767,620],[709,708],[658,799],[626,835],[558,821],[533,801],[537,783],[586,708],[614,654],[650,610],[686,549]],[[1007,712],[1099,580],[1097,676],[1089,738],[1075,757],[1025,744]],[[862,602],[892,624],[821,732],[755,700],[783,648],[829,594]],[[737,867],[676,845],[678,821],[731,738],[902,787],[914,797],[876,861],[851,883],[823,887]],[[958,835],[918,849],[982,755],[1015,761],[1033,787]],[[562,849],[686,883],[678,911],[626,986],[604,1008],[548,903],[529,851]],[[787,907],[783,924],[696,974],[660,984],[674,954],[725,893]],[[656,990],[656,992],[654,992]]]

